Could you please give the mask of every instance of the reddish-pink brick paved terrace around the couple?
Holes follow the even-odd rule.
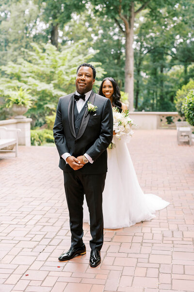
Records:
[[[55,147],[0,154],[0,292],[194,291],[194,146],[178,146],[176,130],[136,130],[129,150],[145,192],[171,204],[156,219],[105,230],[102,263],[87,253],[69,262],[63,174]]]

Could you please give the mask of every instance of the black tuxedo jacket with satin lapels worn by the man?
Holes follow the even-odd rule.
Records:
[[[74,92],[75,93],[75,92]],[[107,147],[113,139],[113,111],[108,98],[92,91],[88,101],[95,106],[95,112],[85,112],[76,136],[74,128],[74,93],[62,96],[57,106],[53,133],[60,155],[59,167],[65,172],[74,171],[61,157],[65,152],[74,157],[87,153],[94,161],[76,170],[85,174],[107,171]]]

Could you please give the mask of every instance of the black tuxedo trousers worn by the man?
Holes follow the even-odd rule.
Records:
[[[90,248],[100,251],[103,244],[102,192],[105,179],[106,173],[83,174],[79,170],[64,171],[71,247],[80,247],[83,244],[83,199],[85,194],[90,214],[90,233],[92,236]]]

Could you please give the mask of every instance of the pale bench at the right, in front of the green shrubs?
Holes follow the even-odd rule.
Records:
[[[177,142],[189,142],[192,145],[192,127],[187,122],[176,122],[177,127]]]

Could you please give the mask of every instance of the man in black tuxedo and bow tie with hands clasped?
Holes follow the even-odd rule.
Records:
[[[113,112],[108,98],[92,91],[96,70],[91,64],[77,69],[76,92],[59,99],[53,128],[64,171],[71,247],[65,261],[86,253],[83,237],[83,198],[90,213],[90,266],[97,267],[103,244],[102,192],[107,172],[106,148],[113,138]],[[89,105],[88,105],[89,103]]]

